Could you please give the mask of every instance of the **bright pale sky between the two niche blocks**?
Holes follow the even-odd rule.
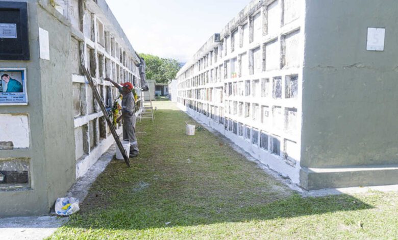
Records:
[[[107,0],[137,53],[188,61],[250,0]]]

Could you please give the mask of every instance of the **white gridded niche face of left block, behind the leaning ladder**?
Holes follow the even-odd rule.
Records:
[[[120,34],[120,26],[109,17],[109,9],[105,1],[59,1],[57,10],[70,20],[73,82],[74,136],[76,142],[77,178],[84,175],[96,159],[104,153],[112,143],[112,136],[103,113],[94,100],[92,90],[86,84],[80,68],[84,64],[94,80],[98,90],[111,107],[118,97],[118,90],[108,82],[110,77],[117,83],[131,82],[140,94],[138,58],[126,41],[127,37]],[[62,7],[63,6],[63,7]],[[105,11],[104,11],[105,9]],[[113,15],[112,15],[113,16]],[[121,125],[118,126],[121,133]]]

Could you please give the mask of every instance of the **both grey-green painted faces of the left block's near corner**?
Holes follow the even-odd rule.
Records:
[[[30,148],[1,150],[3,159],[30,158],[31,189],[0,190],[0,217],[47,214],[76,179],[70,28],[35,0],[28,2],[30,61],[1,61],[26,67],[28,106],[2,106],[0,113],[29,114]],[[49,32],[50,60],[39,58],[39,27]]]

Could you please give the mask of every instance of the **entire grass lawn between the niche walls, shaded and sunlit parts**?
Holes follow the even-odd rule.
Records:
[[[53,239],[396,238],[398,194],[302,198],[190,118],[156,102],[140,156],[113,160]]]

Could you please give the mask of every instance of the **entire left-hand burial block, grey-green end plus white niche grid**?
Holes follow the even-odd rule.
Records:
[[[107,107],[118,90],[106,76],[141,95],[138,55],[105,0],[13,2],[27,3],[31,59],[1,65],[23,69],[29,102],[0,107],[0,217],[47,214],[114,143],[82,65]],[[48,58],[39,30],[48,32]]]

